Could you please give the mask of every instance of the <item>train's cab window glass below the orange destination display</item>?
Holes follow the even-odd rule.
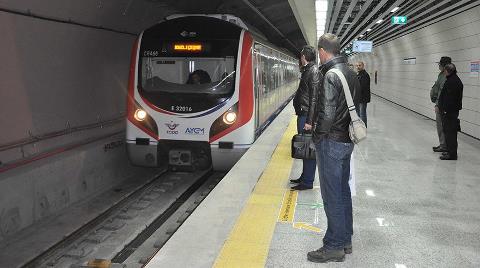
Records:
[[[143,57],[140,64],[139,92],[161,109],[204,111],[231,97],[235,90],[233,57]],[[176,108],[184,106],[188,107],[185,111]]]

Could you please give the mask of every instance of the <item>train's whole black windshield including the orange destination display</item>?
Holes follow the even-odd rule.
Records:
[[[144,37],[139,93],[175,113],[197,113],[227,101],[235,91],[238,40],[163,40]]]

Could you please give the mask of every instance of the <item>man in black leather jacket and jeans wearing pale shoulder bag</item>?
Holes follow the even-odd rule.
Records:
[[[312,262],[344,261],[345,253],[352,253],[353,216],[352,197],[348,180],[353,143],[348,126],[351,118],[340,78],[329,70],[339,69],[345,76],[355,104],[359,102],[360,85],[355,74],[340,56],[340,42],[330,33],[318,40],[318,52],[324,75],[315,104],[315,143],[320,190],[327,216],[327,231],[323,247],[309,252]],[[307,129],[312,128],[306,125]]]

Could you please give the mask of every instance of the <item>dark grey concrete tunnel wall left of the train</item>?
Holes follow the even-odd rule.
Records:
[[[0,242],[155,173],[131,166],[123,144],[131,47],[171,12],[152,5],[0,0]]]

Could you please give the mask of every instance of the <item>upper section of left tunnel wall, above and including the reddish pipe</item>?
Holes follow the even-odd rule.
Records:
[[[6,130],[0,144],[124,116],[134,36],[6,13],[0,25],[0,125]],[[60,143],[95,132],[66,135]],[[0,160],[41,153],[58,142],[9,150]]]

